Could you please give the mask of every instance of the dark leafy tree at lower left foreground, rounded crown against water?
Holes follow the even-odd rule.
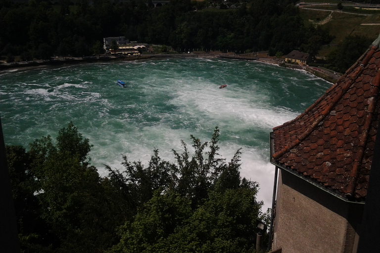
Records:
[[[128,204],[112,181],[90,166],[91,145],[76,127],[30,144],[7,147],[25,252],[96,252],[117,242]],[[117,202],[116,202],[117,201]]]

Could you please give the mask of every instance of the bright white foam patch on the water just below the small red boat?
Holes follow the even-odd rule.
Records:
[[[259,128],[272,128],[283,124],[297,116],[284,108],[268,105],[269,98],[262,94],[249,94],[240,90],[236,93],[230,86],[227,90],[218,89],[214,84],[203,84],[175,90],[176,96],[171,103],[180,107],[183,114],[206,114],[211,120],[219,122],[219,126],[227,126],[239,122],[234,127],[251,125]],[[232,90],[231,90],[232,89]]]

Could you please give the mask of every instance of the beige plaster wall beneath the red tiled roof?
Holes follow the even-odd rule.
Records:
[[[281,247],[283,253],[356,252],[357,234],[347,220],[350,209],[337,197],[281,170],[273,249]]]

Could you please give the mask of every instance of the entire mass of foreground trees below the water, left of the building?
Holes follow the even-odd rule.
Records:
[[[22,252],[252,252],[256,218],[268,219],[258,184],[240,178],[239,151],[219,156],[218,128],[191,139],[193,156],[185,142],[175,163],[124,156],[104,178],[72,123],[55,143],[6,147]]]

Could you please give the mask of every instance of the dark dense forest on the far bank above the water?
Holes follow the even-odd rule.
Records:
[[[149,2],[149,1],[148,1]],[[172,46],[175,50],[269,50],[287,54],[302,49],[315,54],[331,41],[329,32],[305,27],[294,0],[231,0],[236,9],[215,2],[171,0],[161,7],[145,0],[111,1],[0,0],[0,52],[10,59],[49,59],[52,55],[99,54],[104,37]],[[56,2],[57,3],[57,2]],[[193,11],[199,8],[200,11]],[[101,43],[99,43],[101,42]]]

